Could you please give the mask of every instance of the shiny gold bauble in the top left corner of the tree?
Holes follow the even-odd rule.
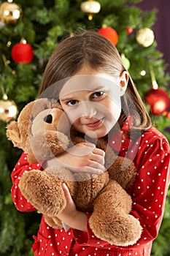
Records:
[[[5,23],[15,23],[20,18],[21,12],[18,4],[4,1],[0,6],[0,20]]]

